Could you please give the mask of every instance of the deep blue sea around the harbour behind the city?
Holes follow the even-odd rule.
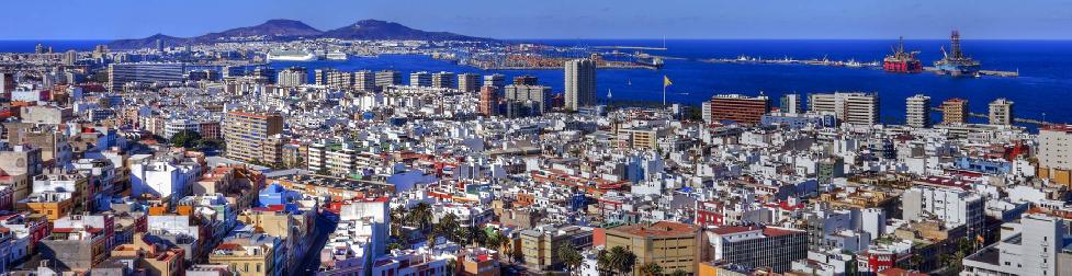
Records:
[[[951,78],[930,73],[902,74],[860,68],[806,65],[736,65],[707,64],[699,59],[735,58],[741,55],[778,58],[828,58],[831,60],[881,60],[896,44],[888,41],[779,41],[779,39],[629,39],[629,41],[527,41],[557,46],[665,46],[667,50],[647,51],[653,55],[679,57],[668,59],[658,70],[600,69],[597,72],[599,97],[607,91],[614,101],[662,101],[663,76],[674,84],[667,100],[673,103],[699,104],[711,95],[764,93],[777,99],[785,93],[822,93],[833,91],[866,91],[880,95],[882,122],[904,120],[904,100],[923,93],[934,105],[950,97],[969,100],[969,108],[986,113],[988,104],[1006,97],[1015,102],[1017,117],[1072,123],[1072,108],[1064,106],[1072,95],[1072,41],[962,41],[964,53],[982,62],[986,70],[1019,71],[1018,78]],[[32,51],[36,42],[0,42],[0,51]],[[91,49],[100,42],[45,42],[56,50]],[[925,66],[941,58],[940,47],[948,50],[948,41],[905,41],[905,48],[919,50]],[[414,71],[453,71],[482,74],[503,73],[507,81],[514,76],[532,74],[542,84],[562,91],[561,70],[481,70],[458,66],[424,56],[352,57],[346,61],[273,62],[273,67],[304,66],[309,70],[334,67],[342,70],[394,69],[405,74]],[[404,81],[408,78],[404,77]],[[777,102],[776,102],[777,104]],[[939,115],[935,114],[938,118]]]

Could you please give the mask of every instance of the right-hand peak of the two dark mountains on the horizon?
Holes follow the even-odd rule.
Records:
[[[362,20],[349,26],[324,32],[323,37],[340,39],[490,41],[448,32],[425,32],[395,22]]]

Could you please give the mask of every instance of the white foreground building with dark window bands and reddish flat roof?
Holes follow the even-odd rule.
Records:
[[[804,231],[776,227],[719,227],[706,232],[704,246],[712,246],[712,260],[744,267],[789,271],[793,261],[808,257]]]

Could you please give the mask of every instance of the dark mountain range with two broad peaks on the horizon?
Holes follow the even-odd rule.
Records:
[[[465,36],[449,32],[427,32],[407,27],[405,25],[382,20],[362,20],[357,23],[320,31],[296,20],[269,20],[256,26],[236,27],[218,33],[208,33],[194,37],[176,37],[156,34],[145,38],[119,39],[109,43],[109,48],[132,49],[156,47],[157,41],[165,45],[185,46],[210,44],[214,42],[241,41],[249,37],[263,37],[267,41],[292,41],[300,38],[339,38],[364,41],[479,41],[489,42],[490,38]]]

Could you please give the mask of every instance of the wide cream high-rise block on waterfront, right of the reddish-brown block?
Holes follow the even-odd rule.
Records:
[[[833,113],[838,122],[860,125],[879,123],[879,95],[874,93],[810,94],[812,113]]]

